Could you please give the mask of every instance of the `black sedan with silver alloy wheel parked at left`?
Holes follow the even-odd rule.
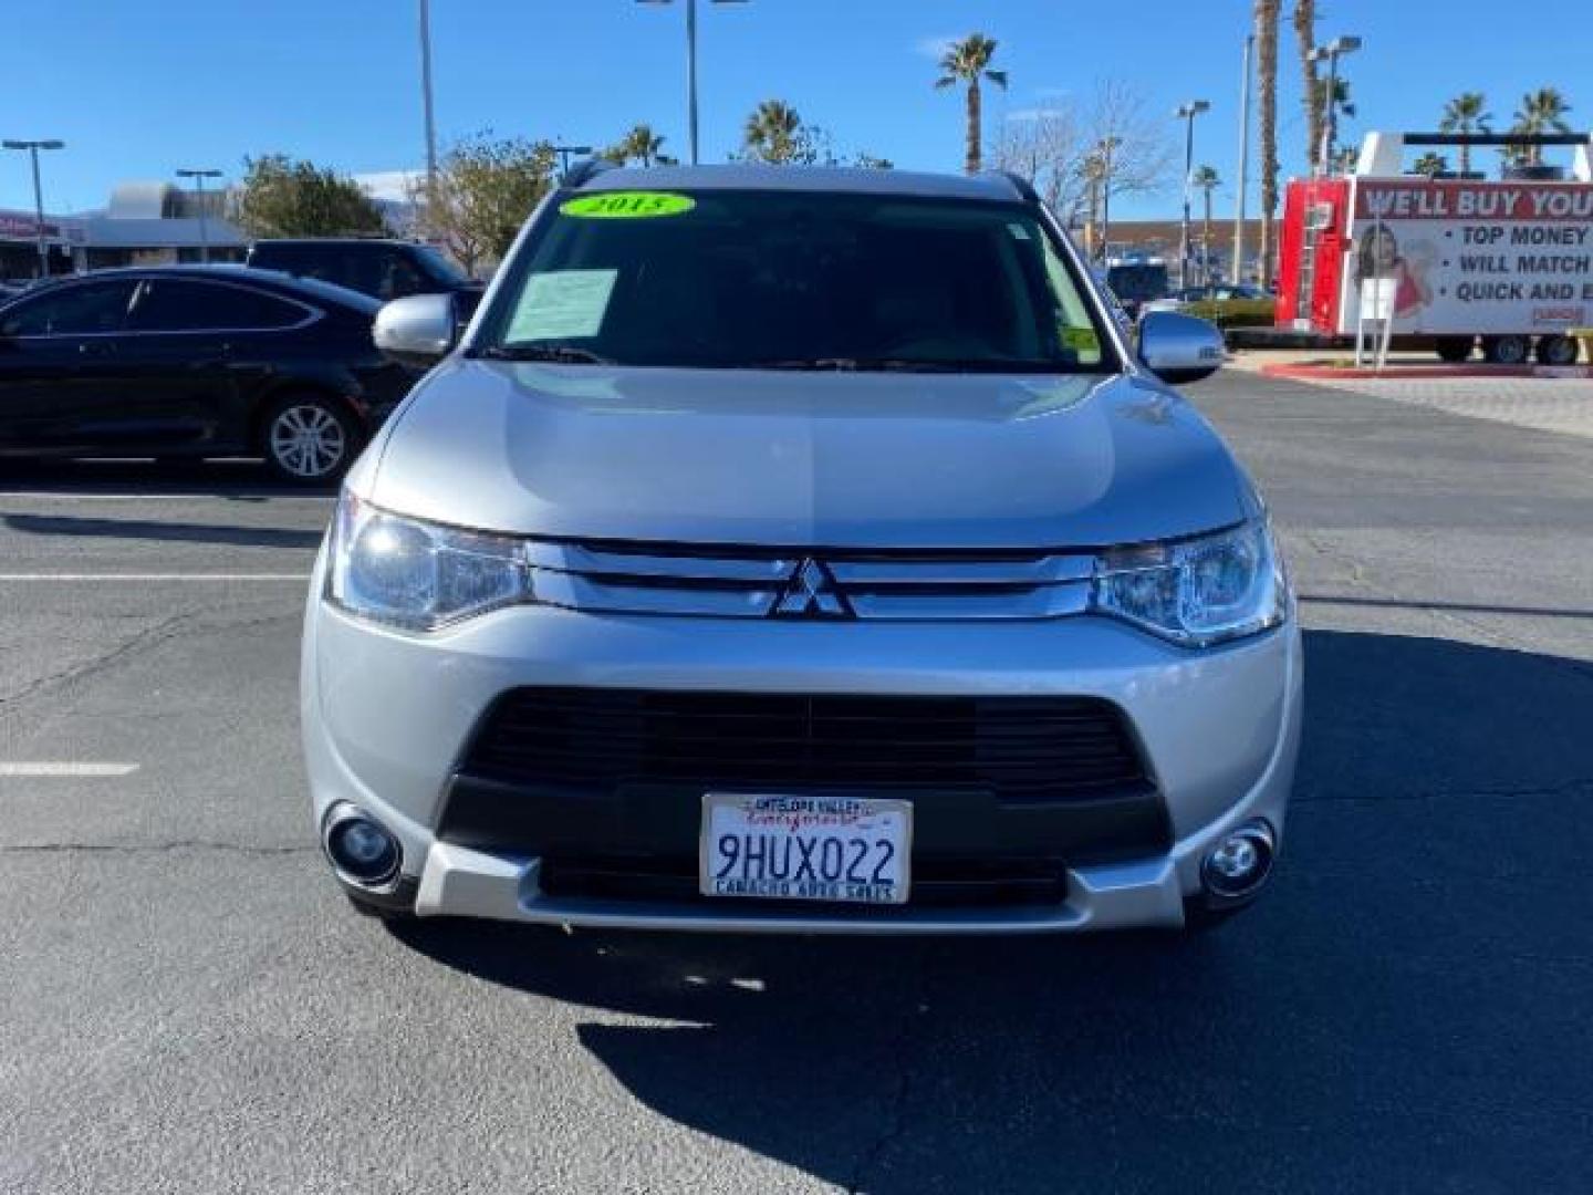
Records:
[[[416,373],[381,304],[237,266],[107,269],[0,306],[0,456],[263,456],[336,478]]]

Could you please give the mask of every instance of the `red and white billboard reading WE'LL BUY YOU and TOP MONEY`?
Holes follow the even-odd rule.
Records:
[[[1354,202],[1344,331],[1368,280],[1400,333],[1593,325],[1593,185],[1364,178]]]

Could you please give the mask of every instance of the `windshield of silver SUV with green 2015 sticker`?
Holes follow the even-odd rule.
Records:
[[[1107,349],[1023,206],[672,191],[564,201],[510,263],[473,352],[1053,373],[1106,368]]]

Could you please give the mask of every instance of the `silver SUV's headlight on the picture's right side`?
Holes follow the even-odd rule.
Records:
[[[1284,620],[1289,586],[1262,521],[1177,543],[1106,553],[1093,607],[1182,647],[1209,647]]]

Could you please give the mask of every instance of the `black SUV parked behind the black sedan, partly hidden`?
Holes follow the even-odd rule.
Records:
[[[317,237],[256,241],[247,264],[358,290],[382,303],[405,295],[454,295],[460,320],[475,314],[483,284],[432,245],[413,241]]]

